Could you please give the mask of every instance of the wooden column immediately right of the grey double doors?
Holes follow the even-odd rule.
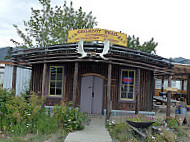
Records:
[[[106,120],[110,120],[111,115],[111,72],[112,64],[108,64],[108,82],[107,82],[107,96],[106,96]]]

